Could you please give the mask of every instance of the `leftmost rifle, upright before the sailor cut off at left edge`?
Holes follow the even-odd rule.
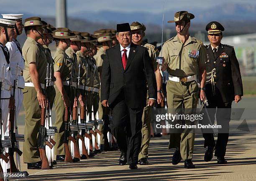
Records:
[[[1,105],[1,92],[3,89],[3,82],[4,82],[4,71],[5,71],[5,64],[3,64],[3,75],[2,75],[2,80],[0,81],[0,105]],[[5,154],[2,153],[3,148],[10,148],[11,147],[11,142],[8,139],[2,140],[4,138],[4,133],[3,133],[3,122],[2,122],[2,108],[0,107],[0,159],[3,159],[5,163],[7,164],[9,159],[5,156]],[[4,151],[5,152],[5,151]],[[6,172],[6,166],[5,166],[5,172]],[[6,176],[3,176],[3,168],[2,165],[0,164],[0,181],[3,181],[3,178]]]

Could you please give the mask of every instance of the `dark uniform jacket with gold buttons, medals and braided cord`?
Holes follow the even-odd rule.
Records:
[[[215,94],[222,102],[232,102],[235,95],[243,96],[243,84],[239,63],[232,46],[220,44],[214,57],[211,45],[205,45],[208,60],[206,60],[206,72],[216,68]],[[206,81],[209,80],[207,76]],[[212,96],[211,82],[206,82],[206,96]]]

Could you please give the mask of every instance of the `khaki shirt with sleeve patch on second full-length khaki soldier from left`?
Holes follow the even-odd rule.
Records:
[[[54,54],[54,72],[61,73],[61,80],[67,81],[70,79],[71,69],[72,69],[72,60],[67,56],[64,50],[61,50],[57,47]],[[73,68],[74,69],[74,68]],[[74,74],[74,70],[73,70]],[[75,76],[72,76],[73,78]],[[73,79],[75,82],[76,79]]]

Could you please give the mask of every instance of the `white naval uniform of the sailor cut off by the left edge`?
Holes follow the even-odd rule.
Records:
[[[2,45],[0,45],[2,46]],[[3,66],[5,64],[5,66]],[[3,76],[4,75],[4,76]],[[5,55],[3,53],[2,48],[0,47],[0,80],[3,80],[3,89],[1,92],[1,109],[2,109],[2,122],[3,122],[3,127],[2,127],[2,140],[4,139],[4,135],[8,136],[9,135],[9,121],[8,121],[8,113],[9,113],[9,99],[10,99],[10,88],[12,86],[12,83],[10,82],[10,67],[9,64],[7,63],[5,59]],[[8,131],[8,132],[7,132]],[[4,134],[3,134],[4,133]],[[8,152],[8,148],[5,148],[5,151]],[[5,164],[3,164],[2,159],[0,159],[0,163],[2,165],[2,168],[5,170]]]

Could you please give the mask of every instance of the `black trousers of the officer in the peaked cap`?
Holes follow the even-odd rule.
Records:
[[[207,110],[211,122],[212,124],[214,123],[216,116],[217,125],[221,125],[222,129],[218,130],[218,139],[216,141],[216,145],[214,141],[213,132],[204,133],[203,131],[203,137],[205,139],[204,146],[215,146],[215,156],[225,156],[226,147],[228,144],[229,122],[231,116],[232,102],[222,102],[222,100],[218,96],[208,96],[207,99],[209,104],[207,106]]]

